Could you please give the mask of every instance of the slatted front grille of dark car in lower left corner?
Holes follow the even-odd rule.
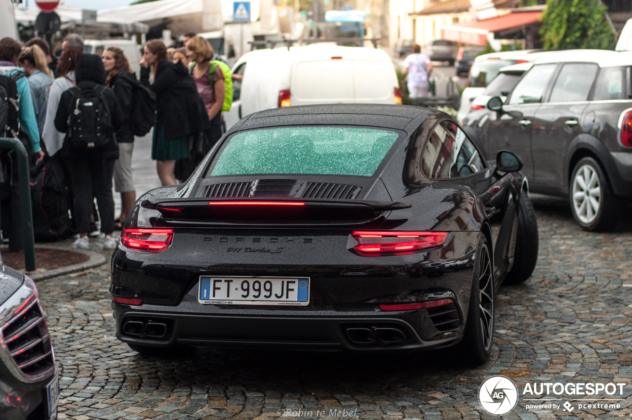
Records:
[[[37,300],[2,328],[2,339],[18,369],[27,377],[54,366],[51,336]]]

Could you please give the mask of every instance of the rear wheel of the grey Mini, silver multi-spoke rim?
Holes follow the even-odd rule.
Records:
[[[573,169],[568,190],[571,212],[583,230],[600,232],[617,225],[619,202],[595,159],[580,159]]]

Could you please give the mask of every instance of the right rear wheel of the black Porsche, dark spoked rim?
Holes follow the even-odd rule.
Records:
[[[495,326],[494,264],[489,242],[483,233],[478,240],[473,273],[468,318],[463,340],[457,349],[468,364],[478,366],[489,359]]]

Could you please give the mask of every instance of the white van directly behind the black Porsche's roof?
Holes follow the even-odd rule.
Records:
[[[401,104],[395,68],[380,49],[313,44],[247,52],[233,66],[226,128],[270,108],[312,104]]]

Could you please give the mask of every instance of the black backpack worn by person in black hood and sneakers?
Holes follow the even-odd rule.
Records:
[[[68,89],[73,97],[68,117],[70,147],[78,151],[101,151],[114,141],[112,117],[103,92],[105,85]]]

